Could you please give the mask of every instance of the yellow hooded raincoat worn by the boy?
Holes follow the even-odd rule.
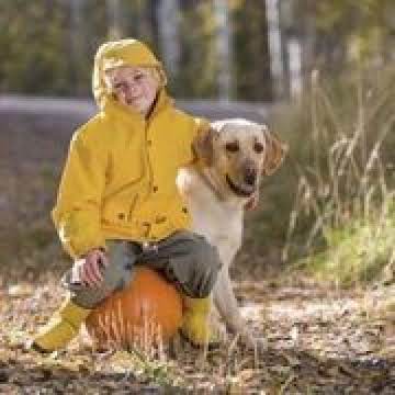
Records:
[[[106,68],[156,67],[161,88],[148,117],[106,91]],[[180,167],[195,160],[192,140],[207,123],[177,110],[165,90],[160,63],[140,42],[103,45],[94,60],[93,93],[100,112],[74,135],[53,219],[71,257],[106,239],[151,241],[190,226],[176,187]]]

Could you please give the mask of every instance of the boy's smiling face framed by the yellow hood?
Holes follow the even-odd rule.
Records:
[[[154,70],[143,67],[117,67],[106,71],[108,83],[116,100],[147,115],[159,89]]]

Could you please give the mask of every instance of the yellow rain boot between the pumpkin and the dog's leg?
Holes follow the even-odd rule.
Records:
[[[215,342],[210,330],[211,298],[192,298],[183,295],[181,334],[196,347]]]

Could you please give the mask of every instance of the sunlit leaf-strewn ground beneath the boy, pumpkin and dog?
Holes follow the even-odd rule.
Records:
[[[188,345],[157,356],[95,350],[81,334],[66,351],[24,350],[61,292],[55,281],[1,289],[0,393],[7,394],[393,394],[395,317],[377,313],[377,292],[341,292],[306,282],[237,284],[262,354],[228,339],[203,352]]]

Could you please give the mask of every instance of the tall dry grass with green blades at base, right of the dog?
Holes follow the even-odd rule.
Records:
[[[340,284],[377,279],[395,259],[395,76],[359,75],[336,89],[312,76],[312,93],[296,114],[296,198],[283,259],[307,256],[312,272]],[[369,77],[369,75],[368,75]],[[290,121],[290,120],[289,120]]]

